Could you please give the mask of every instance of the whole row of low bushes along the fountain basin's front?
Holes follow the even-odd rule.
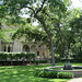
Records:
[[[51,78],[51,79],[71,79],[73,73],[71,72],[59,72],[59,71],[49,71],[49,70],[36,70],[36,77],[40,78]]]

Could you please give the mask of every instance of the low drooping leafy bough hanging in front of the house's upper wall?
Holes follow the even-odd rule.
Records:
[[[43,32],[39,31],[39,27],[35,27],[27,23],[17,28],[17,31],[13,34],[12,39],[21,38],[22,36],[24,36],[26,40],[35,39],[35,42],[37,42],[42,39]]]

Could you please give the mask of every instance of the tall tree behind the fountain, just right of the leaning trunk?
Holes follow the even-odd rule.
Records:
[[[56,52],[61,57],[69,55],[72,44],[74,44],[74,31],[70,26],[70,22],[80,15],[80,9],[70,9],[63,13],[59,26],[56,27]]]

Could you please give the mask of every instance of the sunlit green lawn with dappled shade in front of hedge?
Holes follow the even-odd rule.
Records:
[[[58,65],[60,66],[62,63]],[[49,66],[50,65],[0,67],[0,82],[66,82],[69,80],[69,79],[46,79],[34,77],[34,71],[36,69],[42,69]]]

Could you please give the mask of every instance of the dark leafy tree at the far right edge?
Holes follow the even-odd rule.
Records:
[[[81,12],[82,13],[82,12]],[[79,16],[75,16],[70,22],[71,30],[74,34],[74,44],[73,44],[73,54],[78,54],[82,51],[82,14],[79,14]]]

